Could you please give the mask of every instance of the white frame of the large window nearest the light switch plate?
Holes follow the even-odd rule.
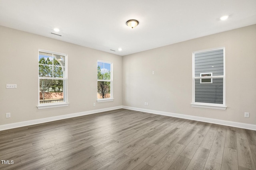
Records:
[[[38,49],[38,56],[39,56],[39,52],[52,53],[52,55],[56,54],[56,55],[65,56],[65,74],[64,74],[63,78],[39,77],[38,76],[38,106],[37,106],[37,108],[38,109],[48,109],[48,108],[54,108],[54,107],[68,106],[69,105],[69,103],[68,103],[68,55],[64,54],[64,53],[58,53],[58,52]],[[38,57],[38,61],[39,61],[39,57]],[[39,65],[38,65],[38,72],[39,72]],[[37,72],[37,74],[38,74],[38,72]],[[65,83],[63,84],[63,86],[65,87],[63,90],[64,102],[40,104],[40,79],[65,80]]]

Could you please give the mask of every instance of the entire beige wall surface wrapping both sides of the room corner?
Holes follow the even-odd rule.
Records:
[[[192,52],[223,46],[227,109],[191,107]],[[38,49],[68,54],[68,107],[37,109]],[[0,26],[0,59],[0,125],[122,105],[256,125],[256,25],[124,57]],[[98,59],[114,63],[114,102],[96,102]]]

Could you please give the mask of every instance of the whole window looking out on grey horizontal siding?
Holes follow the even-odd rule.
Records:
[[[193,53],[193,107],[226,109],[225,48]]]

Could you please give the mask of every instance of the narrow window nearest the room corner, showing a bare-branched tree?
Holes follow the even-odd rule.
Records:
[[[98,61],[98,102],[113,101],[112,63]]]

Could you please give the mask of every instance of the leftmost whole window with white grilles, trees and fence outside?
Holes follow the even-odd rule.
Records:
[[[68,106],[67,55],[39,50],[38,109]]]

